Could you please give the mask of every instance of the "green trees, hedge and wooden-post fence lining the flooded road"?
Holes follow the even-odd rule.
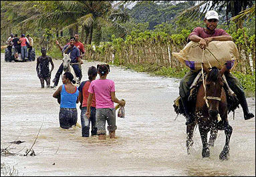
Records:
[[[186,45],[195,27],[204,26],[207,8],[199,9],[200,5],[212,5],[220,15],[219,28],[232,35],[239,49],[233,73],[245,89],[255,90],[255,2],[201,1],[196,5],[196,1],[140,1],[132,9],[125,8],[127,2],[1,1],[1,45],[9,33],[29,33],[37,55],[40,47],[46,46],[48,55],[61,58],[55,40],[65,45],[78,32],[86,44],[87,60],[181,78],[188,69],[171,53]],[[234,11],[232,3],[240,6]],[[15,11],[20,7],[27,8]],[[230,20],[244,9],[244,16]]]

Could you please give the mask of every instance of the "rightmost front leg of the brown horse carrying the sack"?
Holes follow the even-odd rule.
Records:
[[[226,135],[226,142],[225,142],[225,146],[224,146],[221,154],[219,154],[219,159],[220,160],[227,160],[229,158],[229,140],[231,138],[233,128],[232,128],[232,126],[227,124],[225,126],[224,130],[225,130],[225,135]]]

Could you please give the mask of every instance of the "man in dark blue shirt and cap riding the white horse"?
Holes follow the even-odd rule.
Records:
[[[73,63],[72,67],[76,73],[76,76],[79,78],[79,80],[81,80],[82,72],[81,72],[78,64],[74,64],[74,63],[78,63],[79,57],[80,57],[80,51],[79,51],[78,47],[75,46],[75,42],[76,42],[76,38],[70,37],[70,43],[63,47],[62,53],[66,53],[66,54],[70,53],[70,59],[71,59],[70,63]],[[53,79],[53,82],[54,82],[53,88],[57,87],[57,85],[59,83],[59,77],[60,77],[62,71],[63,71],[63,64],[61,63],[61,65],[59,66],[59,69],[57,70],[55,78]]]

